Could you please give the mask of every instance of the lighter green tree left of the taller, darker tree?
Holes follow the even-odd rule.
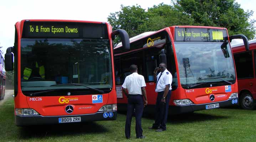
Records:
[[[139,5],[121,5],[121,11],[110,13],[108,22],[112,25],[113,30],[125,29],[129,37],[134,37],[143,32],[158,31],[168,26],[191,25],[193,19],[175,9],[174,6],[161,3],[149,8],[148,11]],[[115,44],[118,42],[120,42],[119,38],[114,40]]]

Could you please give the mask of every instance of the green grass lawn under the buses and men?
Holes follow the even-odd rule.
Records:
[[[256,110],[212,109],[192,114],[170,116],[167,131],[147,129],[153,123],[142,119],[145,139],[136,139],[135,119],[131,139],[124,136],[126,115],[118,114],[116,121],[80,124],[17,127],[14,124],[14,103],[10,98],[0,107],[0,141],[3,142],[97,142],[97,141],[177,141],[177,142],[253,142],[256,141]]]

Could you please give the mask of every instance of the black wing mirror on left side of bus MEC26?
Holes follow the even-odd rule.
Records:
[[[4,55],[5,58],[5,70],[12,71],[13,70],[13,54],[12,54],[13,47],[8,47],[6,49],[6,54]]]

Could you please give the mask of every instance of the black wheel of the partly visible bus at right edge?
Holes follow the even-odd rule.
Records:
[[[240,106],[243,109],[254,109],[254,98],[252,97],[252,94],[249,92],[244,92],[241,94],[241,97],[239,99]]]

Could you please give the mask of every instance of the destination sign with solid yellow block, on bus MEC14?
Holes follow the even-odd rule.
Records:
[[[223,42],[227,40],[224,29],[175,28],[175,41]]]

